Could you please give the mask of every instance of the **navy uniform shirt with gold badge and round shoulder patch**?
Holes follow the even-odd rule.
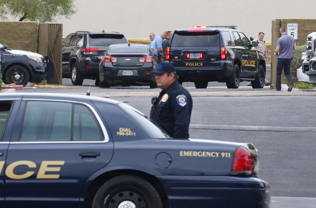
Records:
[[[160,92],[151,107],[150,119],[175,139],[189,138],[192,104],[190,93],[176,80]]]

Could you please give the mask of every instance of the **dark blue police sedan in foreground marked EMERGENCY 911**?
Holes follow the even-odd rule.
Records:
[[[0,207],[269,207],[251,143],[173,139],[105,98],[0,95]]]

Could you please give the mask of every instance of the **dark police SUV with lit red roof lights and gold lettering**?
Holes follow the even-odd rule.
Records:
[[[251,81],[252,88],[263,88],[265,61],[262,53],[236,26],[193,26],[175,30],[166,50],[166,61],[176,68],[181,82],[194,82],[206,88],[208,82],[226,82],[238,88]]]

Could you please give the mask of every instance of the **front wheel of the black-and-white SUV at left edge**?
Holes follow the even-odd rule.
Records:
[[[16,85],[27,85],[30,79],[28,71],[19,65],[11,66],[5,73],[5,81],[7,84],[15,83]]]

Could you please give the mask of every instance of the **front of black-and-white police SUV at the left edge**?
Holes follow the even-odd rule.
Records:
[[[0,44],[2,81],[5,84],[27,85],[52,79],[54,63],[48,57],[30,51],[12,50]]]

